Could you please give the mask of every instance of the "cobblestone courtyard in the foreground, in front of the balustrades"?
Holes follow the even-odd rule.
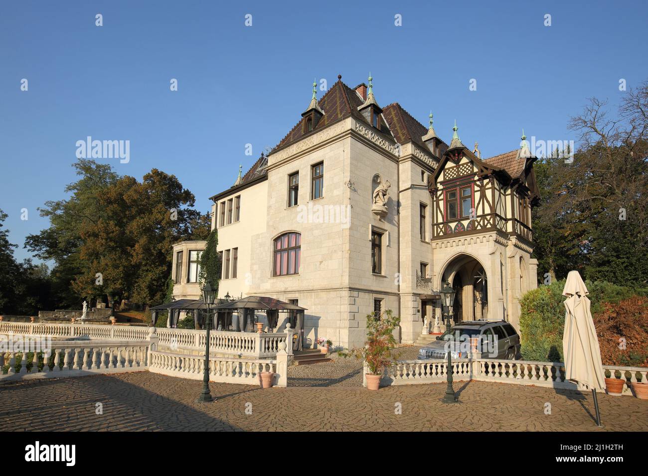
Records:
[[[196,403],[201,387],[150,372],[8,383],[0,385],[0,430],[601,431],[590,394],[523,385],[459,382],[461,403],[451,405],[440,402],[445,384],[371,392],[212,383],[218,401]],[[648,401],[601,395],[599,403],[605,430],[648,430]]]

